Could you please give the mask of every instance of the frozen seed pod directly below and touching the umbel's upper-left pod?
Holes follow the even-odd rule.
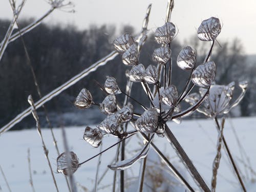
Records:
[[[126,66],[134,66],[138,62],[139,52],[137,45],[133,44],[129,49],[127,49],[122,55],[122,61]]]

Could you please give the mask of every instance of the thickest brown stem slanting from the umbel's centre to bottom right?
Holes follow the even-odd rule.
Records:
[[[179,141],[176,139],[172,131],[170,131],[169,127],[165,124],[165,136],[169,143],[173,146],[174,150],[176,151],[177,155],[185,165],[185,167],[188,168],[189,173],[194,178],[196,184],[203,189],[204,191],[210,192],[210,189],[206,185],[205,181],[199,174],[197,168],[194,166],[194,164],[191,162],[185,151],[183,150],[182,146],[180,145]]]

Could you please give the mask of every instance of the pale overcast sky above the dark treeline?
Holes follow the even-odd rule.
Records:
[[[17,0],[18,1],[18,0]],[[91,24],[115,24],[118,28],[130,24],[138,31],[148,4],[152,3],[148,29],[155,31],[164,24],[167,0],[73,0],[75,13],[54,11],[45,22],[48,24],[75,24],[84,29]],[[27,0],[21,17],[44,14],[50,6],[44,0]],[[242,40],[247,54],[256,54],[256,1],[255,0],[176,0],[171,21],[179,29],[178,39],[183,41],[196,34],[202,20],[211,16],[223,23],[217,38]],[[11,18],[9,0],[1,0],[1,18]]]

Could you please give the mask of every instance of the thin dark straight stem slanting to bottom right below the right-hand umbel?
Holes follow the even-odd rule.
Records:
[[[218,131],[220,131],[220,130],[221,130],[221,126],[220,126],[220,124],[219,124],[219,122],[218,122],[217,117],[215,117],[214,120],[215,120],[216,127],[217,127]],[[229,147],[228,147],[228,145],[227,145],[227,142],[226,142],[226,139],[225,139],[224,135],[223,135],[223,137],[222,137],[222,140],[223,140],[225,149],[226,149],[226,151],[227,151],[228,157],[229,157],[229,159],[230,159],[230,161],[231,161],[231,164],[232,164],[232,166],[233,166],[234,172],[236,172],[236,175],[237,175],[237,177],[238,177],[238,180],[239,180],[239,182],[240,182],[240,185],[241,185],[241,187],[243,188],[243,191],[246,191],[246,188],[245,188],[245,186],[244,186],[243,180],[242,180],[242,178],[241,178],[241,176],[240,176],[240,173],[239,173],[239,170],[238,170],[238,168],[237,168],[237,165],[236,165],[236,163],[234,162],[234,159],[233,159],[233,157],[232,157],[232,155],[231,155],[231,153],[230,153],[230,150],[229,150]]]

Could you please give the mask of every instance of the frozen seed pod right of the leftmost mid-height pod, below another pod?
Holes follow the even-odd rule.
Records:
[[[116,96],[114,94],[110,94],[104,98],[102,103],[99,103],[100,111],[105,114],[113,114],[116,112]]]

